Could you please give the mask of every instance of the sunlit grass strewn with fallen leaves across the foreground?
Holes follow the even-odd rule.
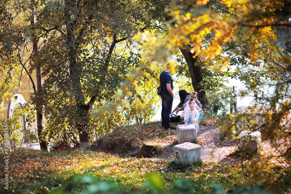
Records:
[[[210,192],[212,183],[226,190],[243,185],[272,185],[271,180],[276,180],[282,169],[268,161],[267,156],[256,157],[252,162],[244,163],[200,162],[177,166],[173,160],[121,158],[104,152],[76,150],[42,153],[22,149],[10,153],[8,193],[48,193],[57,189],[66,193],[79,193],[88,186],[79,179],[84,176],[113,183],[121,193],[144,193],[143,186],[152,174],[162,178],[162,189],[167,192],[177,187],[179,179],[191,183],[190,188],[196,193]]]

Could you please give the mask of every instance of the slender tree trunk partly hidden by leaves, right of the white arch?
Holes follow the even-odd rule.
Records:
[[[35,25],[35,22],[34,22],[35,7],[34,6],[31,6],[31,13],[32,14],[30,17],[30,24],[31,24],[31,29],[33,29]],[[37,57],[38,40],[34,38],[32,42],[33,42],[33,57]],[[35,69],[36,69],[37,90],[41,91],[42,90],[42,76],[41,76],[41,69],[40,69],[39,63],[36,63]],[[39,100],[42,100],[42,99],[39,99]],[[42,137],[42,132],[44,129],[43,118],[44,118],[44,106],[39,105],[39,103],[37,102],[36,103],[36,120],[37,120],[37,133],[38,133],[38,140],[40,144],[40,150],[49,152],[49,149],[47,147],[47,141]]]

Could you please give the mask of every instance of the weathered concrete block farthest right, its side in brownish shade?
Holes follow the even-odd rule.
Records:
[[[242,131],[239,134],[237,147],[241,153],[255,154],[261,149],[260,131]]]

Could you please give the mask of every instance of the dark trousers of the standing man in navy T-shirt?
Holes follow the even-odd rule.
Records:
[[[173,96],[171,94],[161,95],[162,99],[162,126],[167,129],[170,127],[170,114],[173,104]]]

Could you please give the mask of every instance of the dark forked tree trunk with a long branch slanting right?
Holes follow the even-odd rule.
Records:
[[[80,1],[78,1],[79,3]],[[70,3],[70,2],[68,2]],[[78,4],[77,4],[78,6]],[[80,10],[80,9],[79,9]],[[85,99],[83,96],[83,92],[82,92],[82,86],[81,86],[81,82],[80,82],[80,73],[78,72],[79,70],[77,69],[77,51],[79,49],[79,44],[80,44],[80,40],[82,39],[84,30],[90,26],[90,20],[93,18],[93,15],[90,15],[88,17],[88,20],[85,22],[85,24],[83,25],[83,27],[77,31],[77,29],[74,29],[74,24],[77,22],[77,17],[80,14],[80,12],[78,11],[78,13],[74,16],[73,20],[71,19],[71,15],[69,13],[69,11],[65,11],[65,18],[67,20],[67,34],[66,34],[66,44],[68,45],[70,52],[68,53],[68,59],[70,61],[69,64],[69,70],[70,70],[70,79],[72,81],[72,84],[74,84],[74,86],[76,86],[75,89],[75,98],[76,98],[76,106],[78,109],[78,113],[79,113],[79,120],[76,123],[76,128],[77,131],[79,133],[79,139],[80,139],[80,148],[81,149],[86,149],[86,147],[88,147],[89,145],[89,130],[88,130],[88,117],[90,114],[90,110],[93,106],[93,104],[95,103],[95,101],[97,100],[97,97],[99,96],[99,88],[95,91],[95,93],[93,94],[93,96],[91,97],[91,99],[89,100],[89,102],[87,104],[85,104]],[[109,48],[108,54],[107,54],[107,58],[105,60],[105,65],[104,65],[104,74],[102,76],[100,76],[100,81],[99,83],[97,83],[97,86],[103,86],[105,79],[106,79],[106,74],[108,71],[108,66],[109,66],[109,62],[113,53],[113,50],[116,46],[116,44],[118,42],[122,42],[124,40],[126,40],[127,38],[121,38],[119,40],[116,39],[116,35],[114,33],[113,35],[113,42],[111,43],[111,46]]]

